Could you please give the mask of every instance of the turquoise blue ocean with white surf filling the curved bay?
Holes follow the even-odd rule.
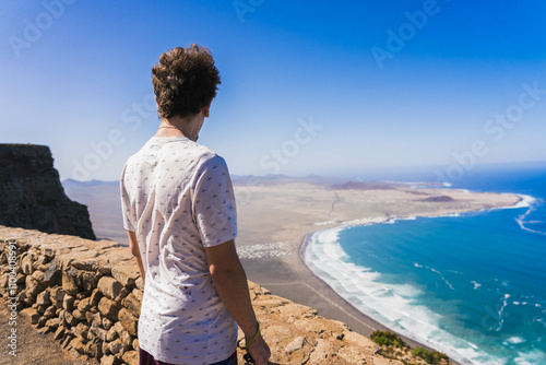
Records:
[[[522,201],[319,231],[307,266],[364,314],[462,364],[546,364],[546,164],[471,170],[452,187]]]

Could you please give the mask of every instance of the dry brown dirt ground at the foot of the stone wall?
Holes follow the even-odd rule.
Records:
[[[98,365],[96,361],[84,361],[73,357],[68,351],[60,346],[60,342],[54,340],[54,333],[39,334],[32,327],[29,319],[17,316],[16,318],[16,356],[10,355],[11,333],[9,323],[10,311],[8,306],[0,301],[0,364],[10,365]]]

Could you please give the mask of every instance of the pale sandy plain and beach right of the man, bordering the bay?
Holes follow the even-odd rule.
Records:
[[[321,316],[344,321],[365,335],[384,327],[355,309],[304,263],[306,240],[313,232],[394,217],[510,207],[521,200],[515,195],[406,185],[332,188],[305,182],[239,182],[235,190],[239,225],[236,242],[248,279],[273,294],[318,309]]]

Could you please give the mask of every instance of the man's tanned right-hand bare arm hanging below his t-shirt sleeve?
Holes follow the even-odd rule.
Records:
[[[217,246],[205,247],[212,281],[227,310],[239,325],[245,338],[250,340],[258,330],[256,314],[250,301],[247,275],[239,261],[233,239]],[[263,338],[258,338],[249,348],[257,365],[266,365],[271,356]]]

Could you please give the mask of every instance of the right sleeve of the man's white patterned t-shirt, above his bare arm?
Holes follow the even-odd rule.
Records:
[[[224,158],[218,155],[200,168],[193,195],[193,214],[204,247],[221,245],[237,236],[235,195]]]

